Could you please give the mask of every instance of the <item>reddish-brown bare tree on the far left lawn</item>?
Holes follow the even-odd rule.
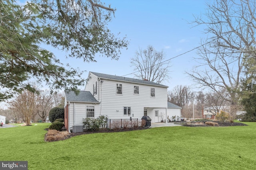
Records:
[[[9,102],[9,109],[16,113],[16,115],[21,115],[26,125],[30,125],[30,121],[36,114],[36,100],[36,93],[24,90],[14,100]]]

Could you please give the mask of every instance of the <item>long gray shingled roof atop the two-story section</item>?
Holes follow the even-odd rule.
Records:
[[[162,86],[162,87],[168,88],[168,86],[164,86],[162,84],[158,84],[158,83],[155,83],[155,82],[150,82],[148,80],[140,80],[140,79],[136,79],[136,78],[113,76],[113,75],[102,74],[102,73],[98,73],[98,72],[90,72],[90,73],[92,73],[95,76],[98,76],[100,78],[108,78],[108,79],[113,79],[113,80],[121,80],[121,81],[136,82],[136,83],[142,83],[142,84],[150,84],[150,85],[154,85],[154,86]]]

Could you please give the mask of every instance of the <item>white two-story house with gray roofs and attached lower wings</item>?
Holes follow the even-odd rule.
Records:
[[[83,118],[100,115],[138,120],[148,115],[152,123],[161,121],[160,114],[164,120],[168,115],[180,116],[180,107],[168,107],[167,88],[147,80],[89,72],[84,91],[78,95],[65,92],[65,127],[70,130],[73,125],[82,125]]]

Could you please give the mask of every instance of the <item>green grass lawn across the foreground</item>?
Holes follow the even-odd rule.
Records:
[[[0,160],[29,170],[252,170],[256,123],[236,127],[159,127],[45,142],[50,123],[0,129]]]

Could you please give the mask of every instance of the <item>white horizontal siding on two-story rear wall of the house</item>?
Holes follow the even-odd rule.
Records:
[[[122,84],[122,95],[115,95],[116,84]],[[144,115],[144,107],[167,107],[167,88],[155,87],[156,95],[152,98],[149,94],[152,86],[148,85],[139,85],[140,95],[134,95],[134,86],[136,86],[134,83],[104,80],[101,86],[102,99],[100,101],[102,102],[95,107],[102,107],[101,114],[108,115],[110,119],[124,119],[124,106],[131,107],[132,118],[139,120]],[[154,112],[152,113],[154,115]],[[127,118],[129,118],[128,115]]]

